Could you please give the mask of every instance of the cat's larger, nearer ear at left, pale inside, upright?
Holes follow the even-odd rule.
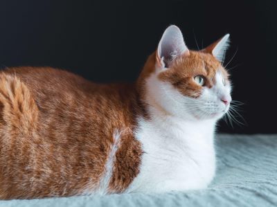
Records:
[[[184,42],[181,30],[175,26],[169,26],[163,33],[156,52],[159,66],[165,68],[179,55],[189,55],[188,47]]]

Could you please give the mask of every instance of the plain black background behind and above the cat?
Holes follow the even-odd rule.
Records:
[[[0,65],[53,66],[96,82],[130,82],[163,30],[176,24],[189,48],[231,34],[233,99],[247,125],[220,132],[277,133],[274,1],[0,1]]]

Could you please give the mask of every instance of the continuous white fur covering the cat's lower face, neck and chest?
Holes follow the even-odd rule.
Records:
[[[215,124],[229,108],[220,99],[231,101],[231,87],[217,73],[214,87],[189,98],[158,80],[160,71],[146,80],[151,118],[139,118],[136,138],[144,153],[140,173],[126,192],[206,188],[215,175]]]

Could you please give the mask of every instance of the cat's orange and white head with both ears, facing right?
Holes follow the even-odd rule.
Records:
[[[202,51],[190,51],[181,30],[169,26],[142,73],[147,102],[179,118],[221,118],[231,102],[231,82],[222,66],[228,43],[225,35]]]

